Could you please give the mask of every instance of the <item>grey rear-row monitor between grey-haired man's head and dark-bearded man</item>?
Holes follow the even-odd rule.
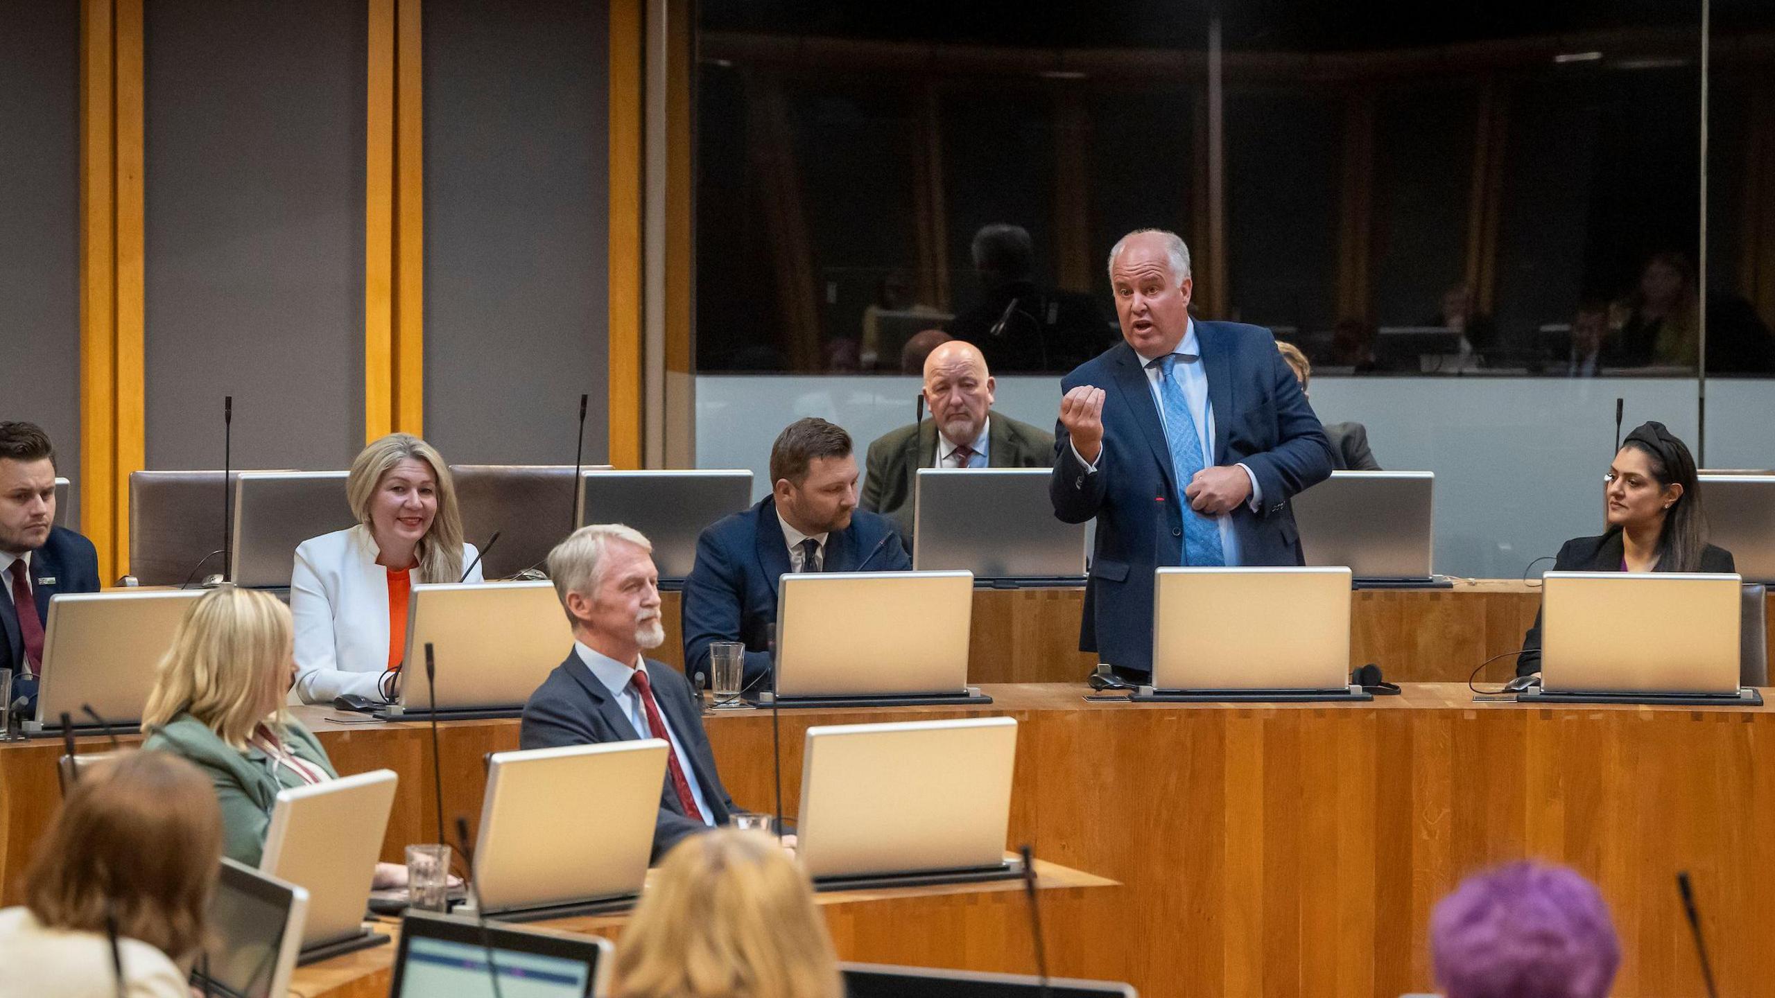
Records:
[[[653,543],[662,582],[682,582],[696,565],[696,538],[715,520],[753,504],[753,472],[589,471],[579,522],[628,524]]]

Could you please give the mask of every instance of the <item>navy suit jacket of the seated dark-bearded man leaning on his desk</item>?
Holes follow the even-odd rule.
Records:
[[[912,559],[893,520],[868,510],[850,513],[850,526],[825,538],[824,572],[909,572]],[[683,581],[683,671],[710,680],[708,645],[746,643],[746,685],[758,689],[770,675],[776,597],[790,574],[788,542],[776,499],[717,520],[696,538],[696,565]],[[769,689],[769,687],[763,687]]]

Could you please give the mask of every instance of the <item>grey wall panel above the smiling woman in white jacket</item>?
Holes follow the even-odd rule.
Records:
[[[609,451],[609,14],[428,0],[426,437],[456,463]]]

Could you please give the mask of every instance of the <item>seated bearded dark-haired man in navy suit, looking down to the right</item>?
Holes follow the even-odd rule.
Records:
[[[712,677],[708,645],[746,643],[746,689],[770,675],[777,582],[793,572],[905,572],[893,520],[857,510],[850,433],[797,419],[770,446],[770,495],[696,540],[683,581],[683,671]]]

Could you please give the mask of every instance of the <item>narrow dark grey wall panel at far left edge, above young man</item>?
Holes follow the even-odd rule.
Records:
[[[0,419],[80,478],[80,11],[0,4]]]

